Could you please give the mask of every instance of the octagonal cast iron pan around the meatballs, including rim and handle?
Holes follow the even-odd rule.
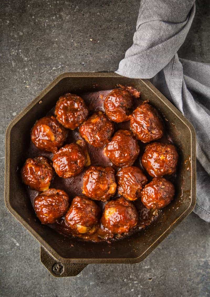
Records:
[[[40,224],[33,211],[20,168],[30,144],[30,129],[48,113],[59,96],[133,86],[164,118],[166,129],[179,152],[175,199],[156,222],[131,238],[108,244],[66,238]],[[77,275],[89,263],[138,263],[143,260],[194,208],[196,202],[195,130],[184,116],[148,81],[115,73],[64,73],[59,75],[8,126],[5,147],[5,204],[12,215],[40,242],[40,260],[56,277]],[[73,244],[71,244],[73,243]],[[71,247],[73,246],[73,247]]]

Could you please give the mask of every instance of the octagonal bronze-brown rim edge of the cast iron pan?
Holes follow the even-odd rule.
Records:
[[[66,77],[122,77],[114,72],[66,72],[60,74],[55,78],[40,94],[29,104],[26,108],[21,111],[18,116],[13,119],[7,127],[5,135],[5,182],[4,182],[4,201],[7,209],[10,213],[23,225],[34,238],[58,261],[62,263],[84,263],[84,264],[95,264],[95,263],[139,263],[145,257],[147,257],[153,249],[181,222],[183,221],[193,210],[196,204],[196,134],[192,124],[178,111],[178,109],[165,98],[149,80],[141,80],[159,99],[173,112],[175,115],[188,127],[191,135],[191,201],[188,208],[148,247],[145,252],[135,258],[64,258],[60,256],[43,238],[12,208],[10,204],[10,133],[12,127],[18,123],[18,121],[33,108],[33,106],[41,100],[60,80]]]

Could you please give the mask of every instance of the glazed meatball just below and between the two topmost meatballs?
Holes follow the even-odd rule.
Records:
[[[94,147],[108,143],[113,132],[114,124],[101,111],[94,113],[79,127],[80,135]]]

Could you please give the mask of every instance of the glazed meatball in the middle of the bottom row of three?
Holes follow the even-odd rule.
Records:
[[[75,233],[93,232],[100,216],[98,205],[84,197],[76,196],[65,215],[66,222]]]

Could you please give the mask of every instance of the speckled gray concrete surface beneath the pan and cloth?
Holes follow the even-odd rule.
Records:
[[[139,4],[1,1],[1,296],[210,296],[210,225],[193,213],[142,263],[88,265],[77,277],[56,279],[40,263],[38,242],[4,206],[9,122],[62,72],[117,69],[132,43]],[[209,1],[199,0],[179,54],[210,62],[209,41]]]

